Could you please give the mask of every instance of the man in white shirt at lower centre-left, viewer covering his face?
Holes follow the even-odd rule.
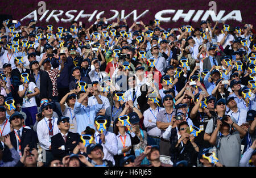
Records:
[[[114,133],[108,132],[104,130],[101,132],[100,127],[96,124],[99,120],[107,121],[103,116],[97,116],[94,120],[94,128],[96,128],[96,132],[94,133],[94,140],[96,143],[101,144],[103,147],[104,158],[106,160],[110,160],[113,165],[115,165],[114,155],[117,155],[118,146],[117,146],[117,137]],[[88,154],[88,153],[87,153]],[[89,156],[89,154],[88,154]]]

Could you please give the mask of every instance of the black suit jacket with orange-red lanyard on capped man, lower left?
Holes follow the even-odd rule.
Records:
[[[18,145],[17,145],[16,135],[15,135],[14,131],[11,132],[9,135],[10,135],[10,139],[11,139],[11,145],[13,145],[15,150],[17,150]],[[22,151],[22,155],[24,152],[24,148],[27,145],[30,147],[30,149],[33,149],[33,148],[36,149],[36,143],[38,142],[38,140],[37,140],[36,133],[34,132],[34,130],[23,128],[21,135],[22,136],[20,139],[20,149]],[[5,150],[3,151],[3,160],[8,160],[8,161],[13,160],[13,158],[11,158],[11,151],[9,150],[9,147],[6,145],[5,145]],[[4,161],[4,162],[6,162],[6,161]]]

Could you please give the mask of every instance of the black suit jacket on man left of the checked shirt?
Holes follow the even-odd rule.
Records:
[[[40,99],[48,98],[52,99],[52,81],[49,78],[49,74],[46,71],[40,70]],[[36,84],[34,73],[31,70],[30,81]]]

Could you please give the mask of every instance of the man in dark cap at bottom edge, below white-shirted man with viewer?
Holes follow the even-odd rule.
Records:
[[[93,166],[113,167],[113,163],[110,160],[103,159],[104,152],[101,144],[90,143],[90,145],[86,147],[86,153]]]

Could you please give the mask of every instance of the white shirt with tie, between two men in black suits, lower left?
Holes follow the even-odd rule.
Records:
[[[53,123],[53,135],[56,135],[60,132],[57,126],[57,120],[58,118],[52,117],[51,122]],[[38,122],[38,126],[36,127],[36,133],[38,134],[38,141],[42,149],[49,150],[49,146],[51,146],[51,139],[49,137],[49,118],[44,117]]]

